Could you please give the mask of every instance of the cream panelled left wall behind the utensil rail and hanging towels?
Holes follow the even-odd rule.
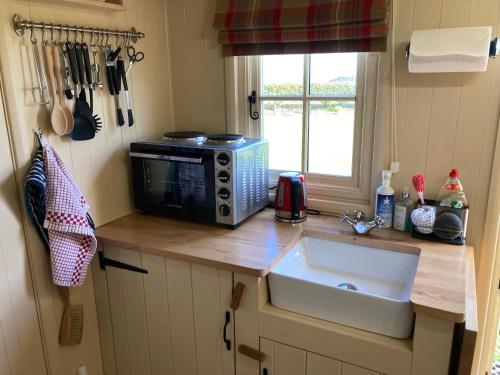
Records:
[[[31,129],[41,127],[50,143],[75,176],[91,207],[97,225],[102,225],[128,214],[133,209],[130,163],[127,157],[129,143],[136,139],[158,137],[173,129],[169,62],[165,25],[165,3],[161,0],[131,1],[125,12],[108,13],[90,8],[73,8],[54,2],[5,0],[0,8],[0,63],[5,81],[7,112],[10,119],[15,164],[19,186],[22,185],[34,150]],[[34,105],[31,97],[30,72],[27,58],[31,58],[29,32],[18,37],[11,18],[18,13],[26,19],[43,22],[89,25],[100,28],[136,29],[146,33],[137,49],[146,58],[135,65],[128,77],[133,101],[135,125],[118,127],[114,101],[108,94],[107,83],[103,93],[95,94],[95,108],[103,120],[103,129],[88,142],[72,142],[54,135],[50,130],[50,114],[47,108]],[[55,32],[55,35],[58,34]],[[37,33],[40,40],[40,33]],[[50,35],[50,33],[48,34]],[[73,39],[73,33],[70,39]],[[65,35],[63,35],[65,38]],[[24,41],[24,45],[22,44]],[[86,37],[87,43],[90,38]],[[112,44],[114,37],[110,38]],[[126,51],[122,56],[127,61]],[[92,56],[91,56],[92,58]],[[105,79],[102,52],[99,59]],[[159,72],[159,73],[158,73]],[[122,108],[126,103],[122,91]],[[125,110],[126,114],[126,110]],[[85,364],[91,374],[102,374],[99,332],[95,310],[92,277],[85,285],[75,288],[73,303],[83,303],[85,322],[83,342],[76,347],[63,348],[57,343],[62,303],[53,287],[49,263],[35,232],[28,224],[29,252],[33,272],[35,294],[40,306],[43,326],[43,343],[48,356],[49,373],[74,373],[76,367]]]

